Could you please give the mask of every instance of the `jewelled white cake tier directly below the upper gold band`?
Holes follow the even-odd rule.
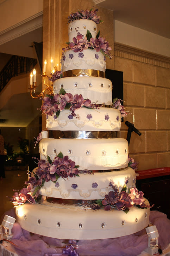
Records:
[[[82,94],[92,103],[112,105],[112,82],[107,78],[93,76],[63,77],[53,83],[54,94],[63,88],[67,93]]]

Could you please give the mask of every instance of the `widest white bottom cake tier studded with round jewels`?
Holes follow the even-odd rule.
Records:
[[[149,224],[149,209],[136,206],[126,214],[117,209],[93,211],[26,203],[15,208],[17,221],[32,233],[60,239],[106,239],[140,231]]]

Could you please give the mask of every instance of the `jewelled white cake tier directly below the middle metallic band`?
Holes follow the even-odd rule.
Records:
[[[79,165],[78,170],[109,170],[128,165],[128,142],[125,139],[42,139],[40,159],[63,156]]]

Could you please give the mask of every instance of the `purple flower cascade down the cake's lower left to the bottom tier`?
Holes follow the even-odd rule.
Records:
[[[62,153],[60,154],[62,155]],[[39,160],[38,168],[36,169],[34,176],[30,177],[29,180],[25,182],[27,188],[15,192],[12,198],[12,203],[14,205],[21,205],[26,202],[35,203],[36,201],[34,198],[39,196],[40,188],[43,187],[44,182],[51,180],[52,182],[55,182],[56,187],[59,187],[59,183],[56,182],[58,178],[75,177],[75,175],[78,175],[77,168],[78,165],[76,166],[75,162],[71,161],[68,156],[56,156],[53,162],[50,159],[50,163],[43,159]]]

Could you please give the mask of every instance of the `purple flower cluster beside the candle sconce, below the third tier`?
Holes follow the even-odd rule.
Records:
[[[73,96],[71,93],[57,93],[54,96],[46,96],[43,100],[44,102],[41,106],[43,114],[52,116],[56,113],[56,118],[63,109],[69,109],[71,111],[71,114],[68,116],[69,119],[76,116],[75,110],[80,109],[82,106],[99,109],[97,104],[92,104],[91,100],[84,99],[81,94]]]

